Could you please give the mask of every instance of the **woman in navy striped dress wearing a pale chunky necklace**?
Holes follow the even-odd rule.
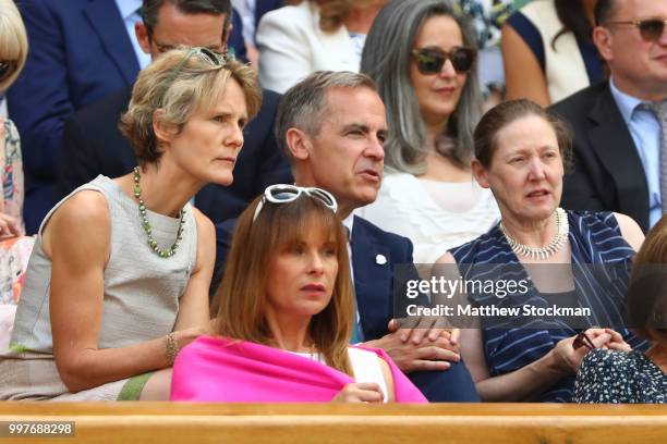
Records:
[[[474,141],[475,178],[494,193],[501,222],[438,262],[456,263],[463,282],[523,282],[507,295],[469,291],[465,303],[473,306],[519,307],[521,314],[524,307],[590,308],[591,314],[482,314],[475,318],[477,329],[463,330],[461,355],[484,400],[569,402],[574,374],[591,348],[644,344],[622,320],[628,266],[644,235],[623,214],[559,208],[570,138],[537,104],[513,100],[492,109]],[[582,332],[584,346],[584,336],[577,340]]]

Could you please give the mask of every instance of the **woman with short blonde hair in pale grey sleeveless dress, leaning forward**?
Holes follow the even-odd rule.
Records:
[[[142,71],[121,122],[140,166],[98,176],[46,217],[0,358],[0,398],[168,396],[169,372],[151,372],[209,323],[215,231],[190,200],[231,183],[259,103],[254,72],[207,49]]]

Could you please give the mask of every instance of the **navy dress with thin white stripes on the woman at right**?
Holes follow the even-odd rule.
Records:
[[[492,377],[509,373],[539,359],[551,350],[556,343],[575,335],[586,326],[614,328],[631,346],[646,346],[645,342],[635,338],[623,326],[629,266],[635,251],[621,236],[616,218],[611,212],[567,211],[567,214],[570,224],[572,274],[577,288],[575,300],[581,307],[591,307],[593,314],[585,320],[587,325],[577,326],[571,322],[538,320],[535,325],[516,328],[498,322],[489,323],[482,319],[484,351]],[[507,243],[499,224],[475,240],[452,249],[451,254],[465,280],[489,279],[489,275],[496,279],[530,279]],[[494,268],[501,268],[504,274],[492,273],[489,270]],[[510,270],[510,275],[507,270]],[[469,293],[469,298],[478,305],[489,304],[489,299],[494,298],[493,304],[506,307],[524,304],[548,307],[553,301],[541,295],[532,283],[527,293],[508,295],[500,303],[495,295],[488,294]],[[539,396],[539,400],[571,402],[574,375],[565,378]]]

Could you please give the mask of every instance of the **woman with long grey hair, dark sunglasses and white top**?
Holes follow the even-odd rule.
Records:
[[[364,48],[361,71],[377,83],[390,132],[383,186],[357,214],[410,238],[416,263],[433,263],[499,217],[470,169],[482,106],[475,55],[470,24],[447,0],[391,1]]]

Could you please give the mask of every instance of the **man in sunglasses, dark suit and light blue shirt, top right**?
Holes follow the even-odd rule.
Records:
[[[609,81],[551,107],[574,130],[562,205],[621,212],[646,232],[667,212],[667,1],[598,0],[595,22]]]

